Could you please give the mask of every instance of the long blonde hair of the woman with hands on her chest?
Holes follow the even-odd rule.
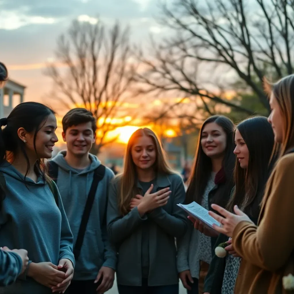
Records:
[[[154,171],[159,174],[172,174],[175,173],[169,166],[166,159],[166,154],[161,146],[160,141],[156,134],[149,128],[140,128],[135,131],[128,141],[126,154],[124,158],[123,173],[120,177],[120,194],[119,194],[119,209],[122,215],[126,215],[129,211],[131,199],[138,194],[137,189],[137,171],[136,165],[132,158],[132,147],[137,138],[148,136],[152,139],[156,151],[156,160],[153,165]]]

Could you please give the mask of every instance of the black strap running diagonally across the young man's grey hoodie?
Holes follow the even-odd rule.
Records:
[[[79,257],[79,255],[81,253],[81,248],[82,248],[82,245],[83,245],[83,240],[84,240],[84,236],[85,236],[85,232],[86,232],[86,227],[87,227],[88,220],[89,220],[89,217],[90,217],[91,208],[93,206],[96,190],[97,190],[99,182],[104,177],[105,169],[106,169],[105,166],[103,166],[101,164],[100,166],[98,166],[94,170],[92,185],[91,185],[89,195],[88,195],[88,198],[87,198],[87,201],[86,201],[86,206],[85,206],[85,209],[84,209],[84,212],[83,212],[81,225],[80,225],[80,228],[78,230],[78,237],[76,239],[76,244],[74,245],[74,257],[75,257],[75,260],[78,260],[78,257]]]

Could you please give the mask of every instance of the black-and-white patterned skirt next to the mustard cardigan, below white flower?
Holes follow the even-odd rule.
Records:
[[[234,294],[235,283],[239,271],[241,258],[227,255],[225,260],[225,272],[223,275],[222,294]]]

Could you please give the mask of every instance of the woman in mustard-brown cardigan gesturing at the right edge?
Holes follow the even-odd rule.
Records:
[[[237,206],[236,214],[217,205],[209,212],[223,224],[215,229],[232,237],[242,257],[235,294],[294,293],[294,75],[269,85],[275,141],[280,143],[278,162],[271,174],[256,226]]]

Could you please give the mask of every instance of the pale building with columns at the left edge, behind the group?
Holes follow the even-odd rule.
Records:
[[[9,116],[14,106],[24,101],[25,86],[8,80],[0,89],[0,118]]]

